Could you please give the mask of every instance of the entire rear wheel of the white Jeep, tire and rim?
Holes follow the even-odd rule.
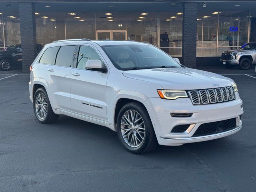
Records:
[[[34,94],[34,113],[40,123],[53,123],[59,115],[52,110],[48,95],[44,88],[38,88]]]

